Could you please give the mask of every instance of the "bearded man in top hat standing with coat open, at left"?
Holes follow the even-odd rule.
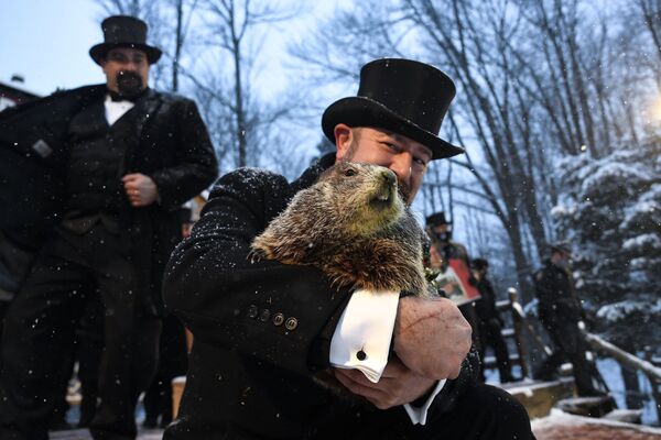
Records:
[[[101,28],[105,42],[89,54],[106,84],[0,114],[0,211],[12,211],[0,227],[35,252],[6,317],[3,440],[47,438],[59,365],[91,295],[104,302],[105,348],[90,431],[136,438],[136,404],[158,359],[163,268],[181,240],[178,208],[217,175],[195,103],[148,87],[161,51],[147,44],[145,23],[119,15]]]

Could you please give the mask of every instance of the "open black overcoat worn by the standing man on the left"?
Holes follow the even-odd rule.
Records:
[[[106,85],[86,86],[0,113],[0,229],[3,243],[37,249],[57,223],[66,197],[67,132],[72,118],[105,98]],[[141,287],[150,307],[160,304],[163,267],[181,240],[178,209],[217,176],[217,161],[195,102],[148,90],[136,107],[136,128],[121,176],[142,173],[159,188],[160,200],[120,207],[120,226],[131,243]]]

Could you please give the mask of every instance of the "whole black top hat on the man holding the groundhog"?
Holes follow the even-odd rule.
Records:
[[[360,69],[358,96],[332,103],[322,117],[326,138],[335,125],[377,127],[402,134],[432,150],[432,160],[464,153],[438,138],[441,122],[455,96],[443,72],[411,59],[377,59]]]

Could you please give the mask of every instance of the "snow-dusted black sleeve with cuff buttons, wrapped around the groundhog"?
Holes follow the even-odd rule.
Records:
[[[319,337],[348,298],[311,266],[252,262],[250,243],[286,202],[284,178],[239,169],[215,185],[189,239],[172,254],[166,307],[194,337],[310,374]],[[327,364],[327,352],[325,354]]]

